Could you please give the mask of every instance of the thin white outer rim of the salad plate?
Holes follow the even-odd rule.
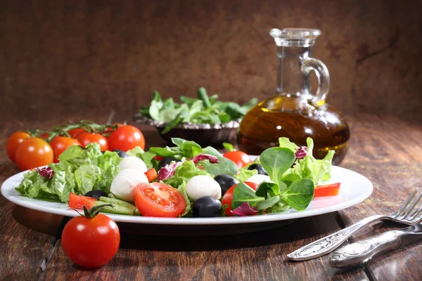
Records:
[[[334,204],[332,206],[323,207],[319,209],[310,209],[310,210],[304,210],[304,211],[290,211],[287,213],[272,213],[272,214],[264,214],[260,216],[238,216],[238,217],[218,217],[218,218],[158,218],[158,217],[151,217],[151,216],[127,216],[127,215],[118,215],[118,214],[106,214],[110,218],[112,218],[116,222],[121,223],[138,223],[138,224],[155,224],[155,225],[179,225],[179,226],[193,226],[193,225],[231,225],[231,224],[239,224],[239,223],[269,223],[271,221],[284,221],[284,220],[290,220],[295,218],[305,218],[309,216],[318,216],[321,214],[328,214],[333,211],[340,211],[342,209],[346,209],[348,207],[352,207],[356,204],[359,204],[360,202],[363,202],[366,200],[369,196],[371,196],[373,192],[373,184],[371,181],[369,181],[368,178],[363,176],[362,174],[359,174],[355,171],[352,171],[350,169],[346,169],[340,166],[332,166],[333,171],[345,171],[347,173],[355,174],[354,176],[361,177],[363,181],[366,181],[368,183],[368,188],[354,198],[353,200],[348,200],[346,202],[340,202],[338,204]],[[23,174],[27,173],[28,171],[22,171],[18,174],[15,174],[4,181],[1,185],[1,195],[3,195],[6,200],[11,201],[15,204],[18,204],[22,207],[26,207],[28,209],[34,209],[37,211],[42,211],[46,214],[58,214],[61,216],[68,216],[68,217],[74,217],[79,216],[79,214],[72,210],[72,209],[54,209],[53,207],[45,207],[42,205],[34,204],[37,200],[30,197],[24,197],[25,200],[19,200],[20,197],[23,197],[22,195],[19,195],[19,193],[15,190],[15,188],[8,188],[7,185],[11,185],[11,181],[15,181],[18,177],[23,178]],[[7,195],[7,192],[15,192],[14,195]],[[18,195],[18,196],[16,196]],[[35,202],[32,202],[34,200]],[[54,202],[58,204],[65,204],[60,202]],[[47,210],[46,210],[47,209]],[[49,210],[50,209],[50,210]],[[103,213],[105,214],[105,213]]]

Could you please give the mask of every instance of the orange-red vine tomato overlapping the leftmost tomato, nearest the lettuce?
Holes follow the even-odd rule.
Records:
[[[53,150],[42,138],[27,138],[16,150],[15,160],[21,171],[48,165],[53,162]]]

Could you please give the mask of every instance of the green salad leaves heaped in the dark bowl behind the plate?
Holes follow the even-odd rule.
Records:
[[[180,96],[181,103],[176,103],[173,98],[163,100],[160,93],[155,91],[151,105],[141,107],[139,112],[155,121],[166,123],[162,133],[167,133],[182,123],[224,124],[240,119],[257,104],[257,98],[252,98],[244,105],[223,102],[217,98],[217,95],[208,96],[207,91],[200,88],[198,98]]]

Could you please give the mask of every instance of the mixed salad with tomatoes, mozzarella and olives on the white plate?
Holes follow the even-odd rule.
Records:
[[[90,208],[104,202],[117,214],[172,217],[248,216],[307,208],[314,188],[331,177],[329,151],[312,156],[313,141],[288,138],[238,168],[215,148],[173,138],[173,147],[101,152],[73,145],[57,164],[25,174],[20,195]]]

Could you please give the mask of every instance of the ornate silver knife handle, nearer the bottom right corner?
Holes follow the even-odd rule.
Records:
[[[402,244],[400,233],[397,230],[388,231],[382,235],[348,244],[333,251],[330,256],[330,266],[333,268],[346,268],[357,266],[369,261],[381,251],[394,249]]]

